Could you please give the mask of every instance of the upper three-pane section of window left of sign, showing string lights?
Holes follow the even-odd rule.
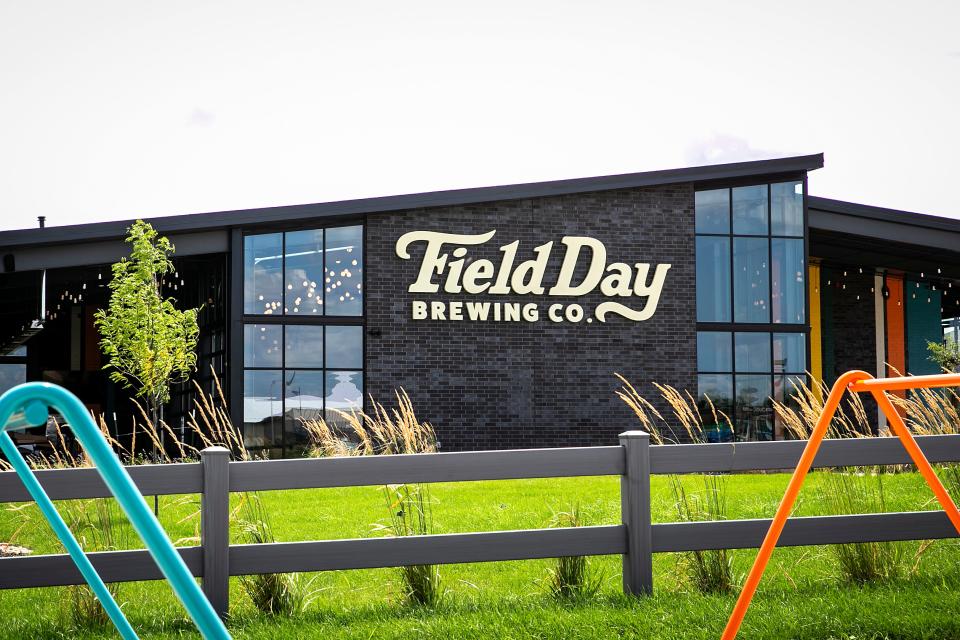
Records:
[[[363,226],[248,235],[247,315],[363,314]]]

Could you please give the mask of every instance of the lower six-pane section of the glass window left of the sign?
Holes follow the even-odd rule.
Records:
[[[244,327],[244,444],[270,457],[309,446],[304,420],[363,408],[363,327]],[[281,348],[281,345],[283,347]]]

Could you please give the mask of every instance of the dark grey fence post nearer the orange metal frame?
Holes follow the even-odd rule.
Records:
[[[650,434],[620,434],[624,471],[620,476],[621,522],[627,528],[627,553],[623,556],[623,591],[631,595],[653,593],[653,528],[650,522]]]

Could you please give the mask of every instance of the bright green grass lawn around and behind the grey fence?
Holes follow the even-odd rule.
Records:
[[[731,518],[770,517],[787,476],[738,475],[727,479]],[[797,515],[824,513],[817,486],[807,481]],[[697,476],[685,478],[691,491]],[[886,479],[890,511],[935,509],[916,474]],[[370,535],[384,522],[383,494],[376,487],[266,493],[264,500],[280,541]],[[676,520],[669,480],[654,478],[656,522]],[[620,519],[619,479],[569,478],[474,482],[433,486],[438,533],[543,527],[554,511],[577,504],[590,524]],[[12,506],[12,505],[8,505]],[[33,507],[26,507],[26,512]],[[196,500],[164,498],[161,520],[174,539],[196,531]],[[234,536],[237,537],[237,531]],[[0,511],[0,540],[14,537],[38,553],[58,552],[42,519],[23,525],[23,514]],[[237,538],[239,540],[239,538]],[[135,541],[131,546],[137,546]],[[185,542],[192,544],[192,542]],[[779,549],[747,614],[743,638],[960,638],[960,543],[904,543],[905,575],[893,582],[854,587],[843,583],[833,549]],[[738,551],[735,566],[745,574],[753,551]],[[546,593],[548,560],[453,565],[442,568],[447,594],[436,609],[399,603],[394,570],[315,574],[314,600],[295,618],[270,618],[253,610],[237,580],[231,585],[231,631],[236,638],[717,638],[734,596],[695,592],[682,558],[655,558],[655,595],[621,595],[620,558],[595,558],[603,576],[601,593],[588,601],[559,603]],[[0,638],[115,637],[112,628],[73,628],[66,589],[0,591]],[[169,589],[160,583],[124,585],[120,600],[144,638],[197,637]]]

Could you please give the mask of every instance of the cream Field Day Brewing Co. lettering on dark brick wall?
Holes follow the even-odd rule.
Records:
[[[477,235],[411,231],[397,240],[397,256],[410,259],[409,246],[425,243],[423,259],[417,279],[407,291],[410,293],[440,293],[466,296],[563,296],[580,297],[598,290],[608,298],[588,315],[580,304],[553,303],[546,307],[546,317],[552,322],[605,322],[610,314],[630,320],[647,320],[657,310],[663,284],[670,270],[669,264],[658,264],[651,275],[651,264],[624,262],[607,264],[607,250],[595,238],[564,236],[563,261],[555,280],[544,282],[547,264],[554,242],[533,249],[535,257],[517,263],[520,241],[501,246],[499,264],[486,258],[473,259],[467,247],[489,242],[496,230]],[[577,267],[585,274],[574,282]],[[583,269],[580,271],[583,273]],[[540,304],[537,302],[498,302],[491,300],[413,300],[414,320],[537,322]]]

